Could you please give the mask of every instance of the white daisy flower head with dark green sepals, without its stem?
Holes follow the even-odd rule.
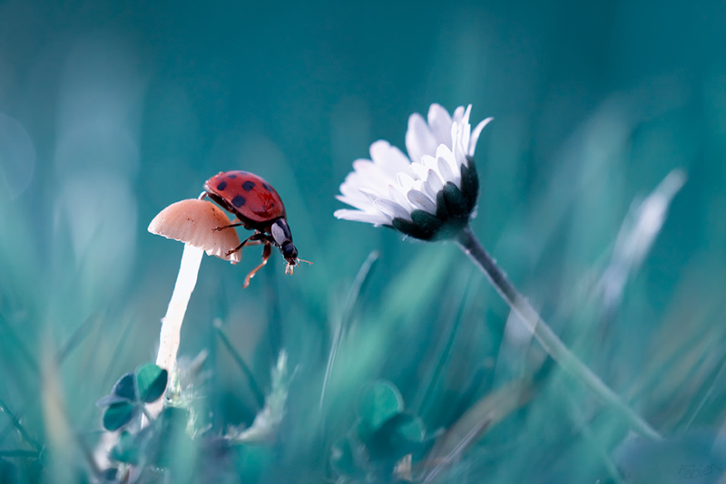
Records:
[[[356,160],[336,198],[358,208],[336,210],[335,217],[375,226],[395,227],[423,239],[447,237],[468,223],[479,183],[474,165],[476,140],[487,118],[471,131],[469,113],[454,116],[431,104],[428,122],[418,113],[408,118],[408,157],[388,141],[370,145],[370,160]]]

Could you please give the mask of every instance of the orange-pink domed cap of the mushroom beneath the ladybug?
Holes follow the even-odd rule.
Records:
[[[208,256],[220,257],[237,264],[240,262],[240,250],[227,255],[240,245],[237,231],[233,228],[214,230],[230,224],[230,219],[221,208],[211,201],[191,198],[172,203],[159,212],[149,224],[149,232],[199,247]]]

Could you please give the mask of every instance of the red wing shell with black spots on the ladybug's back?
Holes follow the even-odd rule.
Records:
[[[249,171],[222,171],[208,179],[210,197],[251,228],[267,227],[285,217],[282,198],[270,183]]]

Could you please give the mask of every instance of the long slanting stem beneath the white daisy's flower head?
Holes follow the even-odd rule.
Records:
[[[505,273],[496,266],[494,259],[489,256],[485,248],[476,239],[471,228],[464,227],[456,236],[456,243],[471,258],[476,265],[489,278],[512,310],[524,322],[527,329],[535,336],[537,341],[542,344],[546,351],[560,367],[574,376],[584,386],[593,391],[603,402],[612,405],[614,409],[620,411],[623,418],[630,422],[633,431],[636,431],[643,437],[650,440],[661,440],[660,434],[653,430],[648,422],[644,421],[637,413],[628,407],[620,397],[613,392],[600,378],[594,374],[567,346],[564,345],[560,338],[544,323],[544,320],[535,311],[535,308],[529,304],[524,295],[516,290],[515,286],[509,282]]]

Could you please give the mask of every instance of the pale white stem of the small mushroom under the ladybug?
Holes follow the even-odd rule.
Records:
[[[159,353],[156,355],[156,364],[169,372],[170,378],[176,367],[176,353],[179,350],[179,339],[182,332],[182,322],[187,311],[189,298],[194,286],[197,284],[197,274],[201,265],[204,249],[184,244],[182,264],[179,275],[176,277],[172,299],[162,318],[162,333],[159,336]],[[160,399],[148,405],[152,416],[162,411],[163,401]]]

